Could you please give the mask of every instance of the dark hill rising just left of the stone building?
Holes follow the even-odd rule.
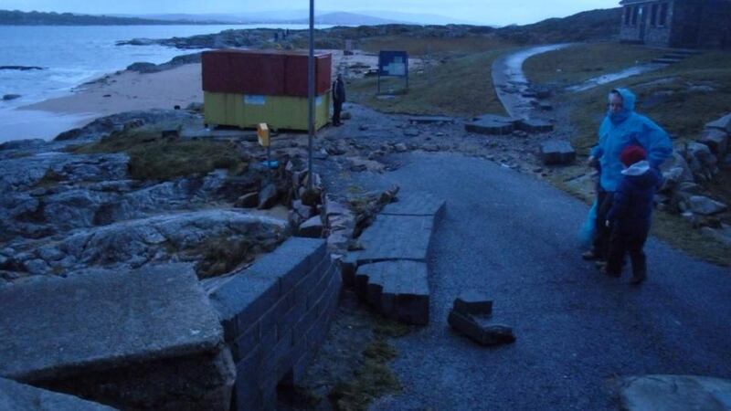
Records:
[[[619,35],[622,9],[589,10],[532,25],[505,26],[497,34],[521,44],[608,40]]]

